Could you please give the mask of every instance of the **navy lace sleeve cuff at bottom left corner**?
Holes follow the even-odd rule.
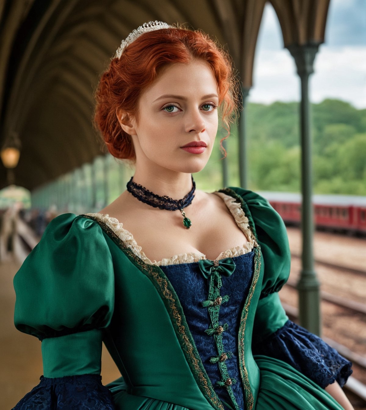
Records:
[[[96,374],[47,378],[26,394],[12,410],[114,410],[109,389]]]

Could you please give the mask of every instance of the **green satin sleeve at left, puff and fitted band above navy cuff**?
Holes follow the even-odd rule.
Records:
[[[45,377],[100,374],[114,272],[98,223],[75,214],[53,219],[16,273],[14,289],[15,326],[42,341]]]

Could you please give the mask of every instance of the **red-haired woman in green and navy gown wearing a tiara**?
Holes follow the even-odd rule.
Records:
[[[352,408],[337,383],[350,362],[280,304],[278,214],[251,191],[195,189],[235,93],[201,32],[150,22],[123,41],[95,121],[136,171],[100,212],[54,219],[16,274],[16,327],[42,340],[44,377],[15,409]],[[108,389],[102,339],[122,374]]]

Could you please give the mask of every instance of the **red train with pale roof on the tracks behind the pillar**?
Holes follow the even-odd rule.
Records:
[[[301,196],[288,192],[260,192],[287,224],[301,219]],[[366,234],[366,197],[314,195],[314,220],[317,228]]]

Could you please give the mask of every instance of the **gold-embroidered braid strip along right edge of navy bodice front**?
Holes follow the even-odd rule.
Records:
[[[252,296],[255,290],[255,285],[257,284],[257,281],[259,278],[259,272],[261,269],[261,252],[260,252],[259,245],[257,245],[257,247],[255,248],[254,265],[255,266],[254,266],[252,285],[250,285],[249,294],[246,298],[243,311],[241,312],[240,327],[239,327],[239,343],[238,343],[239,362],[240,362],[239,368],[240,368],[241,379],[243,380],[244,389],[245,389],[247,410],[252,410],[253,405],[254,405],[254,398],[253,398],[252,390],[250,389],[248,371],[245,367],[244,334],[245,334],[245,329],[246,329],[246,320],[248,318],[249,305],[252,300]]]

